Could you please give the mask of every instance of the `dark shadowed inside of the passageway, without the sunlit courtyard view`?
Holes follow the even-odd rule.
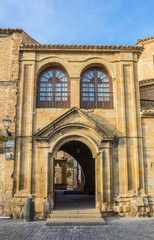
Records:
[[[95,208],[95,159],[91,150],[80,141],[70,141],[62,145],[59,151],[71,155],[80,164],[84,176],[84,190],[55,190],[55,210],[83,210]]]

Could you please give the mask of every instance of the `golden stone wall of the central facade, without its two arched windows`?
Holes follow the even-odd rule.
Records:
[[[100,153],[98,154],[99,157],[97,156],[96,199],[98,199],[98,192],[100,191],[103,195],[103,209],[111,211],[113,210],[113,201],[118,196],[120,196],[118,199],[121,199],[121,203],[117,200],[117,206],[115,207],[120,207],[120,204],[122,206],[123,201],[130,202],[133,198],[138,198],[137,191],[138,188],[141,188],[141,201],[143,202],[144,179],[142,176],[144,169],[137,75],[137,60],[140,49],[134,50],[132,48],[129,52],[128,49],[123,49],[121,52],[116,52],[116,48],[114,48],[106,52],[106,49],[97,51],[98,49],[90,46],[86,50],[78,49],[78,47],[69,48],[70,46],[66,48],[64,46],[42,45],[37,47],[33,45],[21,46],[22,63],[17,106],[16,137],[18,141],[16,145],[15,198],[18,197],[20,200],[22,196],[32,194],[36,197],[37,206],[39,202],[42,206],[43,199],[45,201],[48,197],[48,191],[54,184],[51,183],[52,176],[49,177],[51,184],[49,184],[47,178],[48,168],[52,165],[49,164],[49,151],[53,148],[54,142],[58,142],[58,139],[62,138],[62,136],[65,138],[65,134],[75,135],[75,131],[77,134],[85,136],[85,139],[86,136],[93,139],[93,132],[90,129],[92,127],[94,131],[96,130],[96,126],[92,126],[90,122],[85,123],[80,116],[76,116],[74,119],[74,115],[72,115],[72,119],[69,116],[61,123],[58,123],[60,124],[58,126],[70,122],[74,126],[76,126],[77,122],[84,123],[89,126],[88,133],[85,129],[73,130],[73,133],[71,133],[71,129],[67,129],[67,133],[65,131],[62,133],[62,130],[59,135],[55,133],[53,139],[33,141],[32,136],[35,133],[69,111],[69,109],[65,108],[36,108],[36,89],[39,73],[49,66],[63,67],[70,78],[71,108],[80,108],[80,76],[85,69],[99,66],[105,68],[111,75],[114,108],[82,109],[82,111],[87,117],[94,119],[106,130],[109,130],[119,140],[117,146],[111,147],[112,144],[104,146],[106,154],[103,163],[101,162]],[[56,127],[55,125],[54,128],[56,129]],[[83,141],[86,141],[85,139]],[[112,151],[110,151],[110,148]],[[125,208],[124,211],[130,212],[134,206],[133,204]],[[98,205],[97,201],[96,207]]]

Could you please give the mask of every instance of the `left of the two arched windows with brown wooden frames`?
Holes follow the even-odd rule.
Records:
[[[70,107],[70,84],[64,70],[52,67],[44,70],[37,84],[38,108]]]

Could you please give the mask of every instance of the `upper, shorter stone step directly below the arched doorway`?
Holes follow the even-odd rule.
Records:
[[[100,213],[52,213],[50,214],[49,218],[52,218],[52,219],[67,219],[67,218],[87,218],[87,219],[100,219],[102,216]]]

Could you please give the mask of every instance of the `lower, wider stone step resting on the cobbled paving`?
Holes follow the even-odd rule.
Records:
[[[52,219],[48,218],[46,226],[94,226],[94,225],[106,225],[103,218],[100,219],[89,219],[89,218],[63,218],[63,219]]]

